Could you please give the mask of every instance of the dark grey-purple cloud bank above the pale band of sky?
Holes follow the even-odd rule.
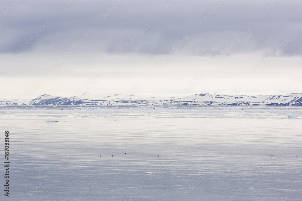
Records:
[[[16,5],[10,10],[7,5],[12,2]],[[2,53],[16,53],[20,44],[26,42],[25,39],[29,41],[31,36],[34,40],[24,52],[63,52],[80,39],[82,33],[89,35],[81,48],[86,53],[116,54],[125,42],[129,44],[134,39],[135,43],[127,52],[167,54],[186,35],[190,39],[182,51],[188,55],[216,55],[231,42],[235,42],[235,47],[229,53],[271,52],[286,38],[290,42],[282,49],[282,54],[302,53],[301,1],[177,0],[173,4],[173,0],[120,0],[120,4],[117,0],[16,2],[18,0],[0,3]],[[112,4],[117,8],[112,13],[108,12],[105,19],[104,13]],[[45,20],[50,22],[46,27]],[[139,38],[134,36],[145,23],[151,27]],[[44,28],[40,30],[43,24]],[[246,27],[251,29],[247,31]],[[234,37],[244,30],[245,36],[236,41]]]

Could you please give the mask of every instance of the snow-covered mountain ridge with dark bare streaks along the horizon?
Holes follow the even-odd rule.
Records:
[[[61,97],[43,94],[33,100],[0,99],[0,105],[302,105],[302,94],[229,96],[195,94],[186,97],[89,94]]]

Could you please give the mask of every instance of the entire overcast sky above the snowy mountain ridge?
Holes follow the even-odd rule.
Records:
[[[300,0],[2,0],[0,99],[302,93]]]

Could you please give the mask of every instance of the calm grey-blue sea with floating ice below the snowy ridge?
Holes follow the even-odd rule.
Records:
[[[294,106],[1,105],[0,200],[301,201],[301,120]]]

